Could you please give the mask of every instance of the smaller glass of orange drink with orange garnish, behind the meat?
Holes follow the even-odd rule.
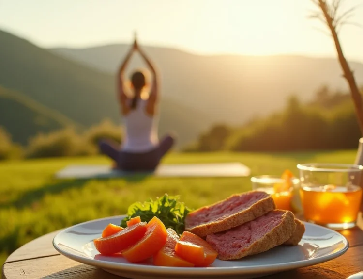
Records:
[[[276,208],[292,211],[291,198],[299,179],[292,177],[287,181],[280,176],[261,175],[252,177],[251,182],[253,190],[263,191],[272,196]]]

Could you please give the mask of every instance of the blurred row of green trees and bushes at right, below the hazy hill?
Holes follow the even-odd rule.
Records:
[[[363,92],[363,90],[362,90]],[[361,137],[348,95],[323,86],[307,103],[295,95],[283,111],[251,119],[242,127],[213,126],[185,151],[298,151],[351,149]]]

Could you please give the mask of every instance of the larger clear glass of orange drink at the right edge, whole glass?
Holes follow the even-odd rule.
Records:
[[[356,225],[362,202],[363,166],[298,164],[304,218],[334,230]]]

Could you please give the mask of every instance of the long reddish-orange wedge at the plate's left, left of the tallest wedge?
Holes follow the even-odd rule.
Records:
[[[93,244],[100,254],[113,255],[135,244],[144,236],[146,230],[146,222],[137,223],[113,235],[94,239]]]

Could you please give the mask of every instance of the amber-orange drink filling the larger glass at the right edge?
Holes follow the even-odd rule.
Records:
[[[362,200],[362,188],[328,186],[330,187],[314,186],[300,189],[305,218],[318,224],[356,222]]]

